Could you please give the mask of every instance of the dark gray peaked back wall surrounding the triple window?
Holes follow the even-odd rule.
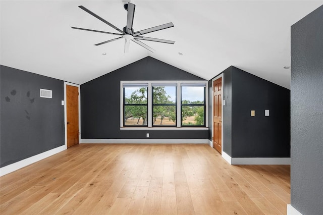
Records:
[[[82,139],[207,139],[208,130],[120,130],[120,81],[204,80],[146,57],[81,85]]]

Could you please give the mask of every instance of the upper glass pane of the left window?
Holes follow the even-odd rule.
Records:
[[[147,87],[124,87],[125,104],[146,104]]]

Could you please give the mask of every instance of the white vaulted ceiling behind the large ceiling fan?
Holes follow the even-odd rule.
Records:
[[[1,1],[1,55],[5,66],[82,84],[146,56],[211,79],[229,66],[290,88],[290,26],[323,5],[320,1],[131,1],[134,31],[173,22],[144,36],[151,53],[124,41],[71,26],[117,32],[85,11],[122,29],[124,1]],[[106,52],[103,56],[102,53]],[[180,56],[178,52],[182,52]]]

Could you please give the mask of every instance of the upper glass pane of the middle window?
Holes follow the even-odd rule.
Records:
[[[152,96],[154,104],[175,104],[176,86],[154,86]]]

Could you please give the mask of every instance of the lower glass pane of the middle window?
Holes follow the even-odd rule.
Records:
[[[154,105],[153,126],[176,126],[176,105]]]

